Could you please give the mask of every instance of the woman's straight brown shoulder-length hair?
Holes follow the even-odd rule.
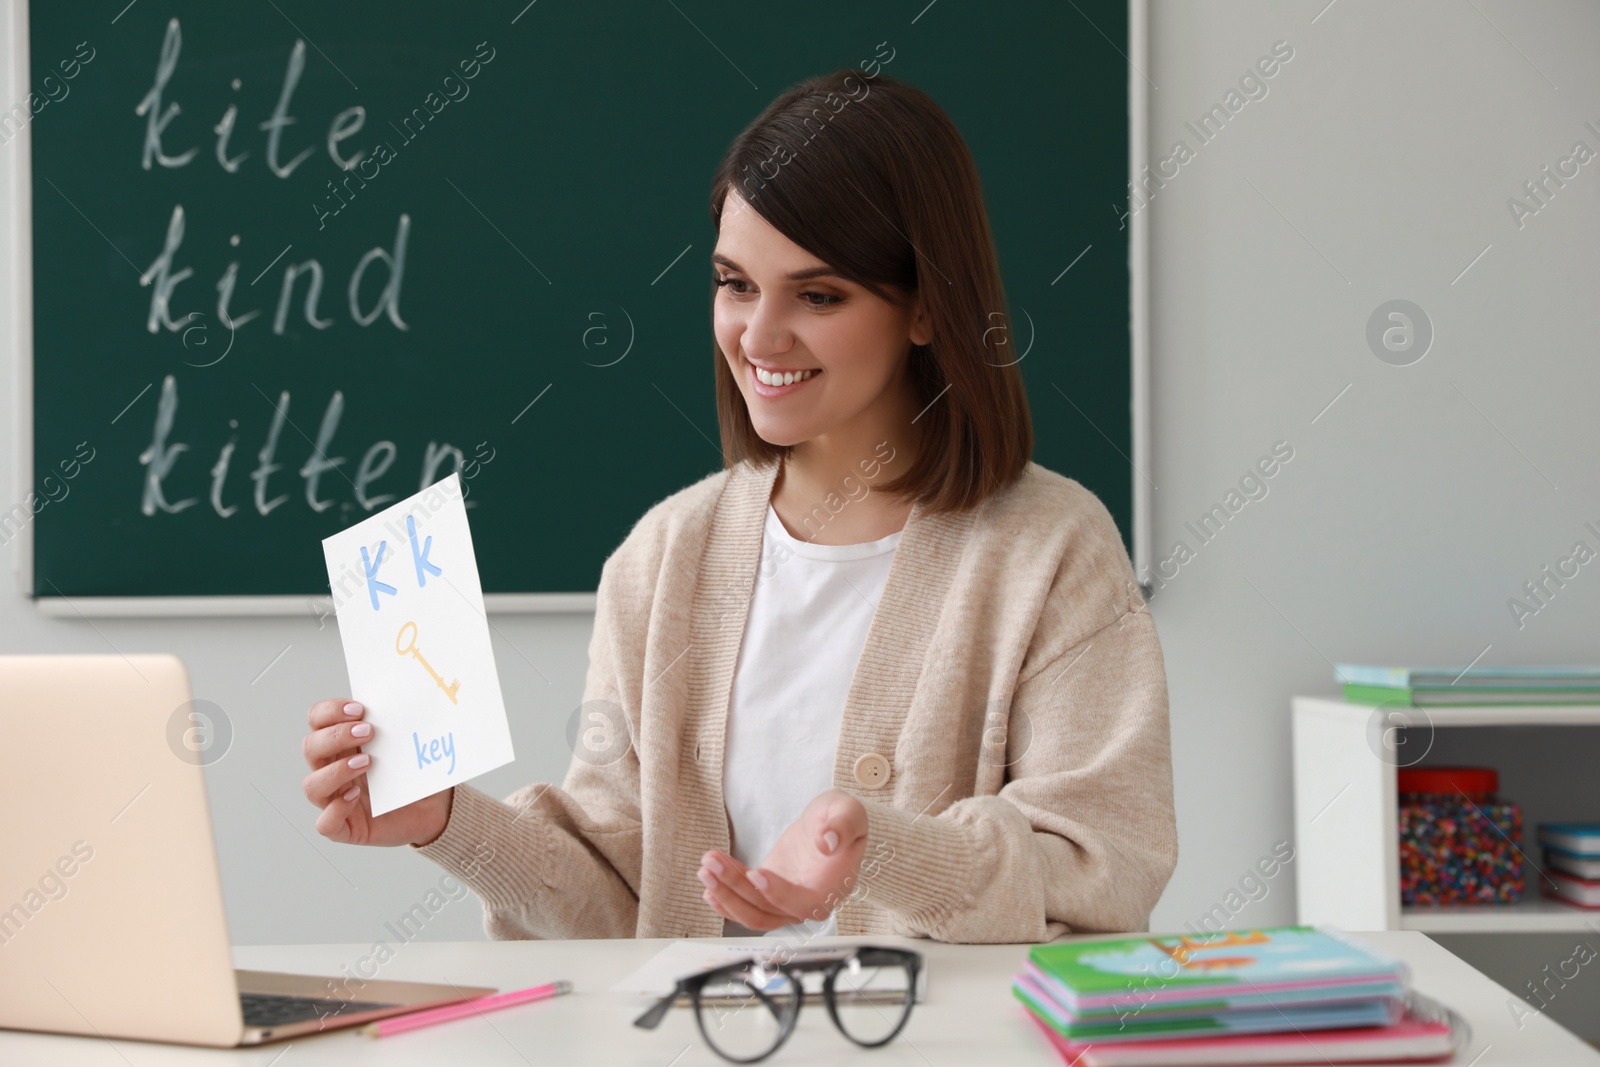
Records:
[[[808,78],[730,146],[712,181],[718,226],[730,189],[845,278],[926,309],[931,342],[909,358],[922,443],[910,470],[877,488],[952,512],[1022,472],[1034,424],[1010,309],[978,166],[944,109],[885,74],[846,67]],[[755,432],[715,341],[712,350],[723,464],[786,456],[789,446]]]

